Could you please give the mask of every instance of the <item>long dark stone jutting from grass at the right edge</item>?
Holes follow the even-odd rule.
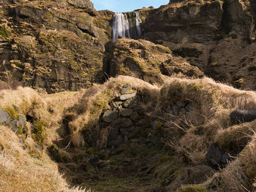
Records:
[[[230,120],[233,124],[250,122],[256,119],[256,110],[235,110],[230,113]]]

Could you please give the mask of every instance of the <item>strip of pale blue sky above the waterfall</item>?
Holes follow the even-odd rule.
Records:
[[[129,12],[142,7],[155,8],[169,3],[169,0],[91,0],[97,10],[109,9],[113,12]]]

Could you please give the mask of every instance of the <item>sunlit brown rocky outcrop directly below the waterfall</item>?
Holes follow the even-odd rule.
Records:
[[[104,70],[111,76],[118,74],[138,77],[161,85],[167,76],[203,77],[203,72],[185,59],[173,56],[162,45],[145,40],[122,38],[106,46]]]

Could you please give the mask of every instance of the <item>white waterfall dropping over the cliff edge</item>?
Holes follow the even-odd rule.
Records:
[[[135,38],[140,36],[140,19],[139,12],[116,12],[113,17],[113,42],[118,39],[118,36]]]

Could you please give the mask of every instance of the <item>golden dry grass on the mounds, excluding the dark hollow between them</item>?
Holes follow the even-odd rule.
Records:
[[[256,179],[255,120],[233,126],[229,115],[236,109],[255,109],[254,91],[240,91],[209,78],[190,80],[170,77],[162,88],[158,88],[125,76],[110,78],[103,85],[94,85],[79,92],[47,95],[31,88],[0,91],[1,109],[10,110],[12,107],[10,111],[14,112],[14,116],[32,115],[34,118],[34,121],[26,123],[29,135],[25,146],[29,147],[29,153],[9,128],[0,126],[0,186],[5,191],[15,191],[15,188],[20,191],[79,191],[68,188],[55,162],[44,150],[37,150],[37,137],[44,137],[39,143],[44,149],[53,141],[64,141],[64,146],[59,146],[59,156],[71,162],[74,154],[66,148],[74,147],[75,153],[87,147],[91,131],[99,128],[100,115],[110,110],[110,101],[120,96],[120,89],[127,84],[143,96],[141,107],[145,108],[147,115],[163,121],[161,126],[168,132],[165,141],[178,156],[175,164],[170,159],[158,166],[159,173],[156,173],[161,175],[159,177],[170,177],[167,175],[170,172],[178,183],[187,180],[186,167],[206,163],[208,147],[217,142],[227,152],[240,153],[236,161],[219,173],[221,179],[217,191],[246,191],[252,188]],[[168,114],[167,107],[176,101],[194,104],[190,110],[191,121],[184,115],[175,115],[173,120]],[[34,128],[42,128],[44,134],[34,133]],[[170,155],[170,158],[173,157]],[[186,166],[182,172],[176,171],[179,165]]]

